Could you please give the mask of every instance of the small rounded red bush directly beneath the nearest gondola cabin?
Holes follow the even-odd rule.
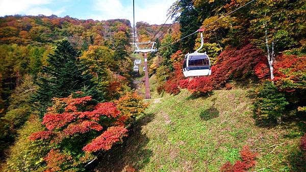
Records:
[[[193,94],[203,94],[211,92],[214,87],[211,77],[198,77],[189,81],[187,89]]]

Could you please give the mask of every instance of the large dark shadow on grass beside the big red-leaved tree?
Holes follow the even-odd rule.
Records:
[[[155,117],[149,113],[138,119],[135,123],[134,131],[129,132],[122,145],[114,146],[103,156],[98,158],[95,169],[92,171],[125,171],[127,168],[142,169],[150,160],[152,151],[145,149],[149,138],[141,133],[141,127],[147,125]]]

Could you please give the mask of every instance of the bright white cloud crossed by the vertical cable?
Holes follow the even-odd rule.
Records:
[[[126,1],[126,0],[123,0]],[[89,16],[92,19],[107,20],[116,18],[129,19],[133,24],[133,1],[124,7],[119,0],[95,0],[94,7],[99,14]],[[145,3],[143,3],[145,2]],[[175,0],[139,1],[135,2],[135,21],[145,21],[150,24],[162,24],[167,19],[167,10]],[[171,21],[168,20],[167,23]]]

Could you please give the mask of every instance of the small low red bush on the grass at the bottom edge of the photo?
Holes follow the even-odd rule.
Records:
[[[254,167],[256,164],[257,153],[252,153],[248,146],[243,146],[240,151],[242,161],[237,160],[233,165],[230,161],[225,162],[221,168],[221,172],[243,172],[249,168]]]

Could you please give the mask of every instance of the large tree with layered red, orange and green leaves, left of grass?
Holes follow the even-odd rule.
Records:
[[[80,96],[78,93],[77,96]],[[129,119],[147,107],[136,94],[127,94],[118,101],[96,103],[90,96],[54,98],[42,124],[47,131],[32,133],[31,140],[45,140],[53,148],[44,158],[47,170],[84,170],[93,159],[92,152],[107,151],[127,136]],[[122,113],[122,114],[121,114]],[[122,120],[124,117],[124,120]],[[71,154],[73,152],[73,154]]]

